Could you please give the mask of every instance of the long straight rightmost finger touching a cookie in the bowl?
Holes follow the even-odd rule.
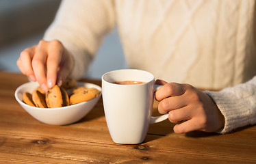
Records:
[[[47,86],[53,87],[57,81],[57,71],[63,54],[62,44],[54,40],[51,42],[47,58]]]

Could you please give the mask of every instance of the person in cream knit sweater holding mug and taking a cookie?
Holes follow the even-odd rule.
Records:
[[[156,81],[164,84],[156,92],[159,113],[185,121],[175,133],[229,133],[256,123],[254,13],[253,0],[66,0],[44,40],[17,65],[43,90],[79,79],[117,25],[129,67],[164,79]]]

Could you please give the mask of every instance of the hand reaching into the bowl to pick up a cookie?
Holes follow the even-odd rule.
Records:
[[[31,81],[38,81],[44,91],[56,83],[61,85],[73,65],[73,57],[58,40],[40,40],[37,45],[22,51],[17,60],[21,72]]]

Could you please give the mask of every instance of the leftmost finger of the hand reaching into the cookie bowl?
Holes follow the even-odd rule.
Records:
[[[18,68],[27,75],[32,81],[36,81],[34,70],[31,66],[31,59],[34,56],[36,46],[32,46],[29,49],[25,49],[21,52],[20,58],[17,61]]]

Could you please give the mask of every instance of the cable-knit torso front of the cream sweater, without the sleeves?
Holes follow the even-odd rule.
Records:
[[[216,90],[255,75],[254,40],[250,38],[254,1],[142,3],[116,1],[115,5],[131,68],[148,70],[157,79]]]

